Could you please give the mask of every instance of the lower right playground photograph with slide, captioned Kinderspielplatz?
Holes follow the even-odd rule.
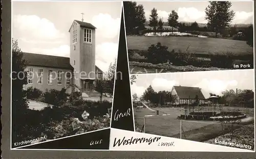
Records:
[[[253,73],[131,75],[136,131],[254,151]]]

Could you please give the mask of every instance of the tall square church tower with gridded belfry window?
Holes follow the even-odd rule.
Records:
[[[95,26],[74,20],[70,33],[70,64],[74,68],[73,84],[81,88],[83,96],[92,92],[95,80]]]

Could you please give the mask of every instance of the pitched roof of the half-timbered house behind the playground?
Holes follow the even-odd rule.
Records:
[[[205,99],[201,89],[199,87],[184,87],[184,86],[174,86],[179,98],[196,98],[198,95],[199,99]]]

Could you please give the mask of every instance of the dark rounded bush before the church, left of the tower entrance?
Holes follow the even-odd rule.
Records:
[[[66,93],[66,89],[62,88],[60,91],[51,89],[46,90],[44,93],[45,102],[55,106],[60,106],[68,100],[69,94]]]

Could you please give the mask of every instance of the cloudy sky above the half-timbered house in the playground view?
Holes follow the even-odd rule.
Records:
[[[137,74],[131,90],[140,97],[150,85],[156,92],[172,91],[173,86],[199,87],[208,98],[209,93],[221,95],[222,91],[229,89],[254,90],[253,74],[253,69]]]

